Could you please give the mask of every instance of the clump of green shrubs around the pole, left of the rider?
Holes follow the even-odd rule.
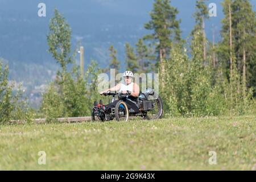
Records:
[[[100,99],[97,92],[97,77],[100,69],[95,61],[89,65],[85,78],[82,78],[74,65],[71,73],[64,75],[62,84],[52,82],[43,94],[41,111],[48,122],[60,117],[81,117],[90,115],[94,100]]]

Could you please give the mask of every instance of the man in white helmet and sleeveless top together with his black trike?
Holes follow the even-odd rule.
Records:
[[[163,103],[154,89],[148,88],[144,92],[139,91],[139,86],[133,82],[133,72],[123,73],[123,82],[100,94],[112,96],[112,101],[104,105],[94,102],[92,108],[92,121],[98,117],[101,121],[127,121],[129,116],[141,116],[144,119],[158,119],[163,115]],[[116,99],[115,96],[118,96]]]

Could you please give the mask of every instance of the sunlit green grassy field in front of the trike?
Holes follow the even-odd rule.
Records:
[[[255,170],[255,135],[253,115],[0,125],[0,169]]]

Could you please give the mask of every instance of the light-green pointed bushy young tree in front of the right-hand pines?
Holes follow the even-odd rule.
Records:
[[[204,45],[201,41],[201,31],[198,30],[194,32],[191,42],[191,62],[187,81],[188,96],[191,97],[189,108],[193,115],[208,115],[212,112],[212,110],[208,110],[208,100],[212,92],[212,69],[210,65],[202,64],[205,60]]]

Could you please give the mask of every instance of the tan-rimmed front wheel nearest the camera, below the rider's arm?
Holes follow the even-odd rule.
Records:
[[[129,110],[125,102],[118,101],[115,105],[115,119],[117,121],[127,121],[129,118]]]

